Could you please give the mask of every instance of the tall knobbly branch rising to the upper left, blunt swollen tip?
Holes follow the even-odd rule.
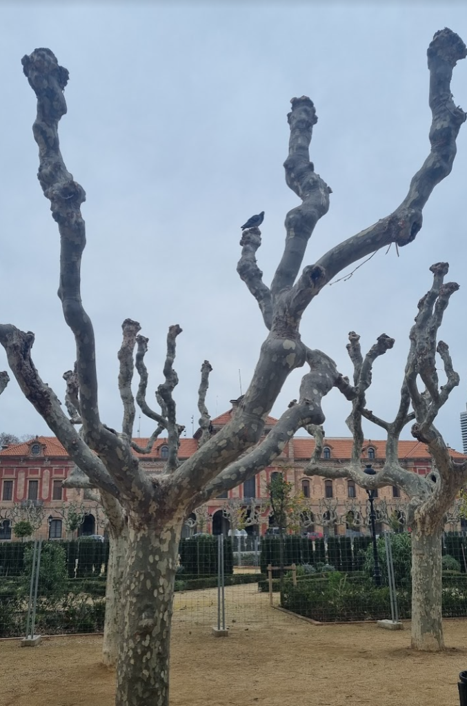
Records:
[[[119,477],[127,489],[133,486],[148,488],[148,479],[139,472],[138,462],[131,454],[128,443],[105,429],[99,417],[94,331],[81,301],[81,256],[85,247],[81,203],[85,201],[85,191],[73,181],[59,149],[58,126],[59,120],[66,114],[64,89],[69,73],[59,66],[50,49],[35,49],[30,56],[23,56],[22,64],[37,96],[37,117],[32,126],[39,147],[37,177],[44,196],[50,201],[52,217],[59,226],[58,294],[65,321],[73,331],[76,342],[76,372],[85,441],[105,459],[107,469],[112,469],[112,475],[116,479]]]

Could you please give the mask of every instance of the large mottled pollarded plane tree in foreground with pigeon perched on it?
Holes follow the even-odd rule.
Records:
[[[237,266],[259,304],[267,329],[252,380],[230,422],[183,463],[177,457],[179,433],[168,385],[162,402],[167,406],[164,433],[169,457],[165,472],[155,478],[144,472],[131,447],[130,412],[134,402],[130,391],[122,397],[121,433],[103,424],[97,405],[93,326],[81,300],[80,268],[85,246],[81,204],[85,192],[67,171],[59,150],[58,124],[66,113],[64,88],[68,71],[59,66],[49,49],[36,49],[23,58],[25,75],[37,96],[33,133],[39,146],[38,177],[60,233],[59,298],[76,340],[81,433],[71,424],[54,392],[42,382],[32,362],[34,335],[14,325],[0,325],[0,342],[24,395],[75,464],[100,491],[116,498],[126,515],[128,541],[121,596],[123,628],[119,636],[117,706],[168,703],[172,598],[177,547],[185,517],[209,498],[264,469],[297,429],[322,424],[321,400],[331,388],[337,387],[350,398],[355,395],[332,359],[302,341],[300,321],[312,299],[348,265],[391,243],[401,247],[415,239],[422,226],[425,203],[436,184],[451,172],[456,137],[466,119],[450,92],[453,68],[465,56],[465,44],[451,30],[437,32],[430,44],[431,149],[411,180],[406,198],[391,214],[342,241],[301,272],[309,238],[329,209],[331,189],[309,160],[312,128],[317,122],[314,104],[305,96],[292,99],[285,179],[301,203],[286,216],[285,246],[271,286],[263,281],[256,264],[261,245],[257,227],[244,230]],[[178,333],[179,327],[170,328],[174,346]],[[285,410],[274,429],[258,444],[266,416],[283,383],[302,366],[306,372],[297,404]]]

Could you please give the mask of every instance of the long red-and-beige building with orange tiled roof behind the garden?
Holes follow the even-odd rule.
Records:
[[[232,408],[220,414],[211,421],[211,433],[215,434],[232,417],[235,406],[240,400],[231,400]],[[264,433],[268,433],[276,419],[268,417]],[[201,431],[194,433],[193,438],[181,438],[179,458],[186,460],[195,453],[199,445]],[[147,438],[137,438],[136,443],[143,448],[148,443]],[[209,532],[218,534],[227,532],[230,527],[226,505],[257,507],[256,525],[247,526],[251,534],[264,534],[268,527],[268,512],[264,510],[267,501],[267,484],[273,473],[280,472],[285,479],[290,481],[296,492],[302,493],[308,499],[312,511],[317,510],[320,503],[333,503],[337,515],[345,516],[345,508],[349,503],[365,505],[367,494],[364,489],[356,486],[353,481],[346,479],[330,480],[324,477],[306,477],[305,465],[314,450],[314,439],[311,437],[295,437],[285,446],[283,452],[271,464],[249,479],[241,486],[212,500],[199,513],[206,518],[206,528]],[[348,437],[326,438],[324,440],[323,463],[348,462],[351,457],[352,439]],[[136,453],[141,465],[150,474],[161,473],[168,455],[167,439],[158,438],[149,454]],[[362,451],[362,462],[371,462],[377,468],[384,464],[386,442],[374,439],[365,441]],[[465,456],[451,450],[454,457],[459,459]],[[424,444],[418,441],[400,441],[399,458],[401,465],[421,475],[430,472],[431,457]],[[64,538],[76,534],[103,534],[104,521],[102,513],[95,501],[88,499],[88,493],[78,489],[65,489],[62,481],[68,477],[73,467],[66,451],[57,438],[52,436],[38,436],[30,441],[20,444],[8,445],[0,450],[0,540],[13,537],[12,529],[15,518],[28,512],[35,513],[36,524],[40,526],[37,536],[42,538]],[[398,508],[407,502],[407,498],[396,487],[379,489],[379,500],[385,501],[389,506],[397,505]],[[230,502],[229,502],[230,501]],[[77,531],[66,532],[67,510],[78,508],[83,517],[81,527]],[[315,508],[315,510],[314,510]],[[196,531],[195,516],[191,518],[191,529],[185,527],[186,534]],[[201,528],[199,528],[201,529]],[[311,528],[310,528],[311,529]],[[327,531],[327,528],[314,527],[318,532]],[[334,528],[336,532],[345,532],[345,523]]]

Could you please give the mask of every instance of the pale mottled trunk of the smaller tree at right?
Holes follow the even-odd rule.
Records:
[[[442,530],[412,534],[412,647],[444,650],[442,626]]]

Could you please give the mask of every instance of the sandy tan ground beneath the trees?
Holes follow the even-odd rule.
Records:
[[[226,590],[228,638],[211,636],[214,591],[177,595],[172,706],[459,706],[466,621],[446,621],[446,652],[420,654],[408,649],[410,626],[315,626],[269,608],[252,587],[242,587],[234,617],[236,590]],[[112,706],[114,674],[100,665],[100,649],[97,636],[35,649],[0,642],[0,705]]]

